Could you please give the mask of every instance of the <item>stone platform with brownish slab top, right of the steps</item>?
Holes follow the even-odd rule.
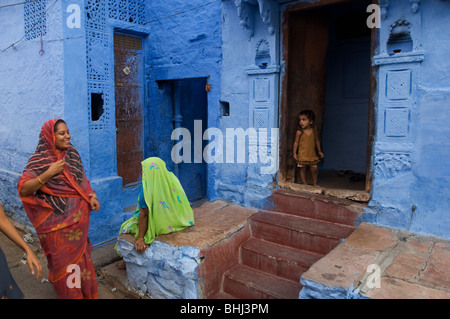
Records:
[[[362,223],[303,273],[301,298],[450,298],[450,241]]]

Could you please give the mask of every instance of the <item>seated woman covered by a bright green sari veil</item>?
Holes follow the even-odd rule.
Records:
[[[194,225],[194,212],[178,178],[158,157],[142,161],[142,186],[136,211],[120,227],[135,235],[135,248],[143,253],[156,236]]]

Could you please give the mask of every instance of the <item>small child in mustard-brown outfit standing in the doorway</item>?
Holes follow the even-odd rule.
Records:
[[[317,175],[320,159],[324,157],[320,146],[319,135],[314,126],[316,116],[311,110],[301,111],[298,115],[299,125],[295,134],[294,158],[300,167],[300,177],[306,183],[306,168],[309,167],[313,178],[313,185],[317,185]],[[319,158],[320,157],[320,158]]]

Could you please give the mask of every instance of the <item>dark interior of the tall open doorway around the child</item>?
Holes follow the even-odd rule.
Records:
[[[292,145],[298,112],[312,109],[325,158],[319,185],[367,192],[371,142],[371,1],[347,1],[290,12],[288,19],[287,98],[282,101],[280,175],[298,189]],[[311,177],[309,176],[310,184]],[[306,187],[308,188],[308,187]]]

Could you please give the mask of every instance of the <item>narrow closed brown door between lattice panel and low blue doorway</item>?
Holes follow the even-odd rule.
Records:
[[[142,39],[114,34],[117,174],[123,185],[140,181],[143,160]]]

